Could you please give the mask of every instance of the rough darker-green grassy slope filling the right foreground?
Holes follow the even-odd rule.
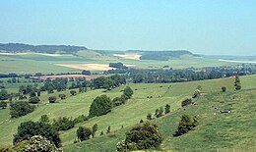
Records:
[[[244,89],[238,92],[234,92],[231,85],[226,85],[232,82],[230,79],[228,79],[229,81],[227,79],[213,80],[211,82],[204,81],[206,85],[211,85],[212,88],[205,90],[207,94],[199,99],[198,106],[190,106],[185,111],[179,108],[173,110],[173,104],[170,102],[172,106],[171,114],[153,121],[160,127],[160,132],[163,135],[163,142],[160,148],[162,150],[171,149],[173,151],[182,152],[218,150],[254,151],[256,148],[256,131],[254,129],[256,127],[256,119],[253,117],[253,114],[256,112],[255,79],[256,76],[241,77],[242,83],[248,81],[252,82],[244,86],[245,88],[250,87],[251,89]],[[202,84],[200,82],[192,83],[189,82],[187,85],[193,88],[193,86],[197,84]],[[226,93],[220,92],[220,84],[228,86],[229,91]],[[177,89],[176,86],[181,87],[182,85],[187,86],[181,83],[181,85],[173,85],[173,88]],[[252,89],[253,86],[254,88]],[[188,88],[188,90],[190,90],[190,88]],[[184,91],[183,93],[184,95],[188,95],[189,91],[187,93]],[[144,106],[145,105],[143,105],[143,107]],[[218,110],[214,109],[215,107],[218,107]],[[231,114],[220,113],[220,110],[225,109],[230,109],[232,111]],[[135,109],[128,113],[136,113],[139,115],[140,111]],[[126,112],[126,115],[129,115],[128,113]],[[199,125],[195,130],[185,135],[173,137],[172,134],[175,132],[182,114],[197,116],[199,118]],[[110,115],[111,113],[107,116],[111,117]],[[96,118],[97,121],[100,119],[102,118]],[[145,120],[145,117],[142,119]],[[126,120],[125,122],[128,121],[129,120]],[[138,124],[139,119],[136,121]],[[89,126],[88,124],[86,125]],[[64,150],[69,152],[78,152],[85,149],[89,151],[114,151],[115,143],[125,138],[125,132],[129,130],[129,128],[129,126],[126,126],[108,135],[96,136],[96,138],[88,141],[65,146]]]

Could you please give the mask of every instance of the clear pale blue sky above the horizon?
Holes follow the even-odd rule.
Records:
[[[256,55],[256,1],[0,0],[0,42]]]

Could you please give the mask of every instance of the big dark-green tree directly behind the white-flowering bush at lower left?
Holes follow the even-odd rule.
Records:
[[[61,146],[58,131],[50,124],[42,122],[24,122],[18,127],[18,132],[14,135],[13,142],[18,143],[23,140],[30,139],[34,135],[41,135],[55,144],[56,147]]]

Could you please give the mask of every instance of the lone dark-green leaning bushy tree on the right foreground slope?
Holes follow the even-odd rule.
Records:
[[[187,133],[189,130],[193,129],[197,125],[197,118],[193,119],[189,115],[182,115],[181,120],[178,124],[178,130],[174,136],[182,135]]]

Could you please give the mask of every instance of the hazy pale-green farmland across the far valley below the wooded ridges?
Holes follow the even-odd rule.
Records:
[[[94,51],[79,51],[76,55],[69,56],[45,56],[40,54],[3,55],[0,54],[0,69],[2,74],[58,74],[68,72],[81,72],[82,70],[57,66],[55,64],[106,64],[122,62],[126,65],[134,65],[135,68],[147,69],[169,66],[174,69],[202,68],[214,66],[235,65],[235,63],[221,62],[218,59],[198,58],[183,56],[171,61],[130,60],[113,56],[112,54],[99,54]]]

